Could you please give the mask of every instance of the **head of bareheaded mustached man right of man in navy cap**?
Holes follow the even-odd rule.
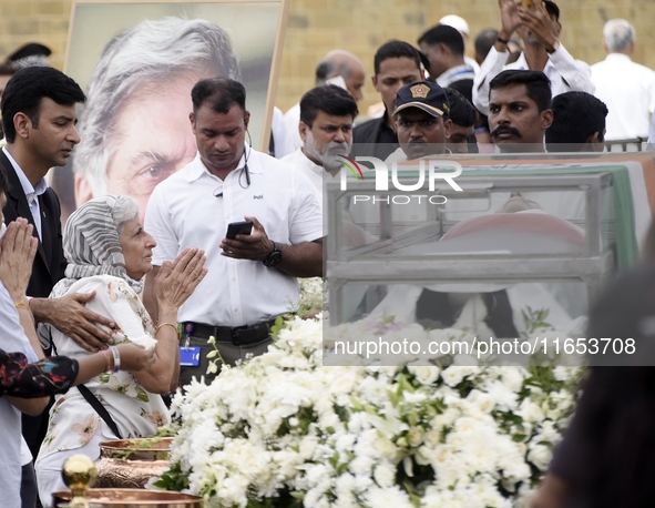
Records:
[[[499,151],[545,152],[544,133],[553,123],[547,77],[541,71],[503,71],[489,87],[489,130]]]

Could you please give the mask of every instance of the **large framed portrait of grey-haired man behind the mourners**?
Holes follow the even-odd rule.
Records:
[[[86,94],[81,142],[51,184],[62,221],[103,194],[134,196],[196,154],[188,114],[201,79],[240,81],[253,148],[267,151],[287,0],[76,0],[65,72]]]

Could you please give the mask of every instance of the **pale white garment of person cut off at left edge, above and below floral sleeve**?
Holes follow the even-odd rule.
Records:
[[[0,348],[8,353],[22,353],[29,363],[39,358],[32,349],[20,324],[18,309],[8,291],[0,282]],[[11,405],[7,397],[0,397],[0,508],[16,508],[20,504],[21,478],[21,413]]]

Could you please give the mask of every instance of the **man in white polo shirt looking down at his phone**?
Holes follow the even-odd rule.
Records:
[[[184,323],[180,384],[205,375],[213,349],[234,365],[265,353],[275,317],[298,301],[297,277],[323,274],[323,220],[311,183],[294,166],[245,144],[249,112],[237,81],[208,79],[191,92],[196,158],[158,184],[145,228],[157,238],[144,302],[157,318],[153,281],[165,260],[188,246],[206,252],[208,275],[180,309]],[[252,234],[226,238],[229,223]],[[187,347],[186,347],[187,346]]]

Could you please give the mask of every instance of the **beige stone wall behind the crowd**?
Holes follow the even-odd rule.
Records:
[[[637,31],[634,60],[655,67],[655,32],[649,27],[655,2],[560,0],[559,4],[561,40],[575,58],[589,63],[602,60],[604,22],[625,18]],[[63,68],[71,6],[71,0],[0,0],[0,59],[24,42],[38,41],[53,50],[52,65]],[[290,0],[276,104],[285,111],[313,87],[316,63],[329,50],[356,53],[372,73],[373,54],[381,43],[392,38],[416,43],[449,13],[465,18],[473,37],[487,27],[498,28],[495,0]],[[370,81],[364,91],[360,110],[366,111],[379,99]]]

